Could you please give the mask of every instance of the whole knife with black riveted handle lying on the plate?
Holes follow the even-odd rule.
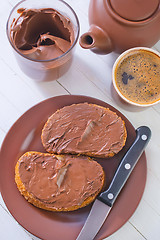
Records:
[[[109,188],[95,200],[76,240],[93,240],[95,238],[150,138],[151,130],[147,126],[141,126],[136,129],[134,143],[122,158]]]

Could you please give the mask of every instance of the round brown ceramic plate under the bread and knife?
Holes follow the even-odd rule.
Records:
[[[115,111],[126,123],[127,142],[115,157],[98,159],[106,173],[106,188],[114,172],[135,138],[135,129],[127,118],[109,104],[85,96],[58,96],[47,99],[24,113],[8,132],[0,152],[0,189],[4,202],[13,217],[29,232],[39,238],[50,240],[76,239],[91,209],[54,213],[38,209],[28,203],[19,193],[14,181],[14,167],[26,151],[45,152],[41,144],[41,130],[47,118],[57,109],[73,103],[89,102]],[[125,187],[117,198],[112,211],[96,239],[103,239],[118,230],[136,210],[146,183],[146,157],[141,156]]]

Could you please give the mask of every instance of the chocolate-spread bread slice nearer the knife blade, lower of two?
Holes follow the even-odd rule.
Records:
[[[31,204],[49,211],[73,211],[102,190],[104,171],[88,157],[26,152],[15,166],[15,182]]]

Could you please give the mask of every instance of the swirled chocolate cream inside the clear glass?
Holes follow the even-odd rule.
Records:
[[[74,42],[73,25],[52,8],[19,9],[11,26],[11,39],[23,55],[50,60],[67,52]]]

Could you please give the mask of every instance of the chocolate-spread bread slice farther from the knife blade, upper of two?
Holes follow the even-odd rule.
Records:
[[[112,157],[125,145],[125,123],[115,112],[79,103],[57,110],[43,127],[41,140],[49,153]]]

